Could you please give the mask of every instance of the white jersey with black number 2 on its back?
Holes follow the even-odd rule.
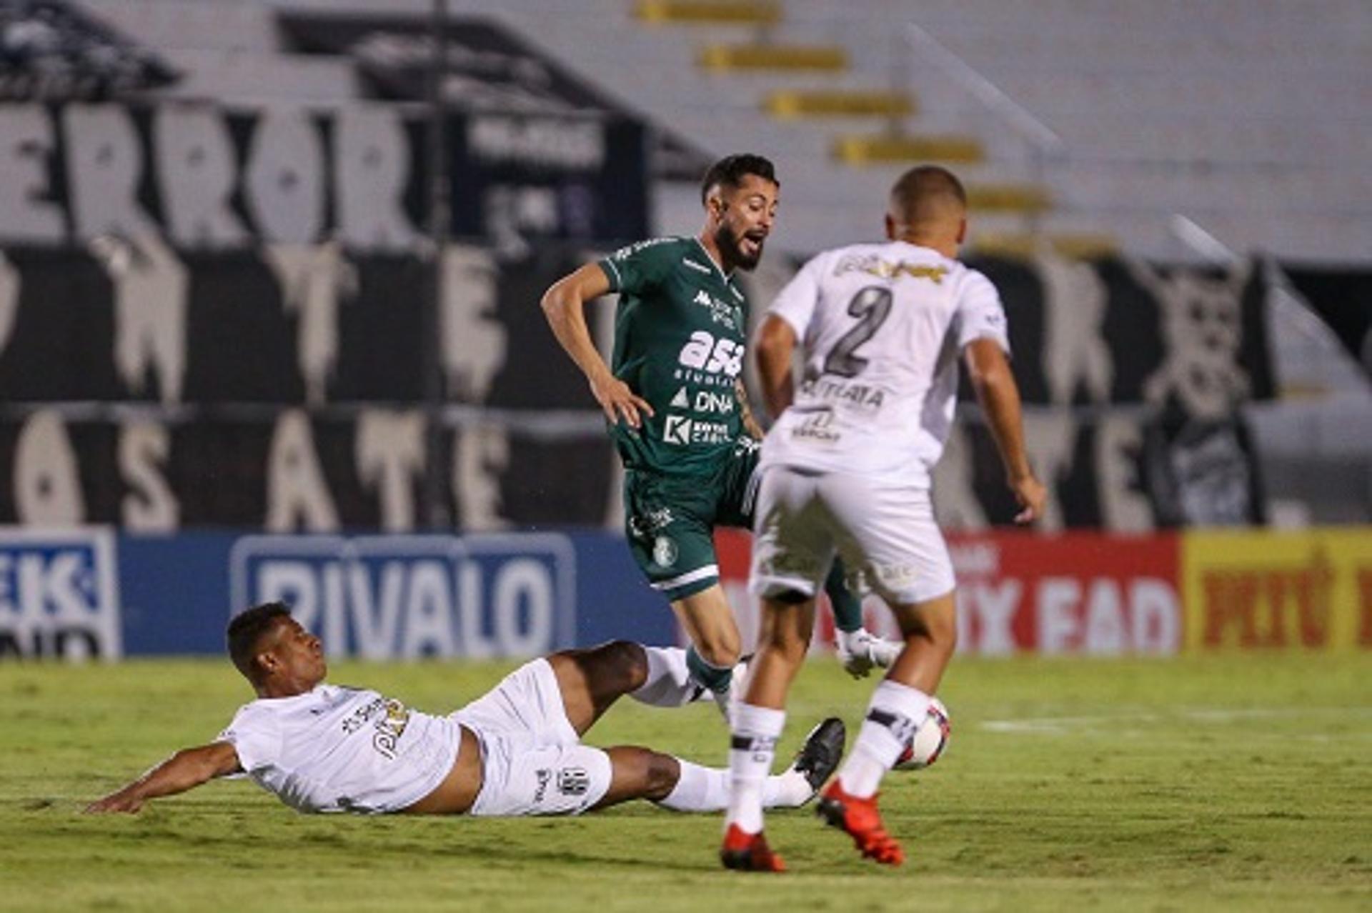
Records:
[[[927,488],[952,428],[963,347],[991,339],[1010,351],[991,280],[904,241],[818,255],[770,313],[796,330],[804,377],[767,435],[764,466]]]

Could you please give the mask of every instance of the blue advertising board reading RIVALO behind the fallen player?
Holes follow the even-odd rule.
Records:
[[[671,610],[602,532],[125,536],[0,528],[0,658],[215,654],[284,600],[333,657],[534,657],[674,643]]]

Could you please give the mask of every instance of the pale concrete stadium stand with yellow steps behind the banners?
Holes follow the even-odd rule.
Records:
[[[424,16],[434,7],[84,5],[182,74],[154,97],[268,107],[333,106],[368,92],[348,58],[291,49],[281,14]],[[1122,251],[1221,265],[1255,255],[1353,270],[1372,262],[1372,178],[1362,163],[1372,144],[1372,12],[1357,0],[449,0],[447,8],[505,23],[707,155],[750,148],[783,162],[774,245],[794,254],[874,236],[873,202],[908,160],[932,158],[967,178],[978,210],[973,241],[986,252]],[[696,193],[693,181],[660,180],[654,230],[691,230]],[[1372,354],[1360,370],[1357,330],[1340,347],[1297,285],[1273,276],[1269,337],[1286,396],[1250,414],[1269,488],[1294,504],[1277,520],[1365,517]],[[1350,307],[1360,306],[1368,307]],[[1325,469],[1342,483],[1312,481]]]

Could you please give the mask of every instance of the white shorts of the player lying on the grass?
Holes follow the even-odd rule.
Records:
[[[609,790],[609,755],[580,744],[547,659],[525,662],[453,718],[482,743],[472,814],[580,814]]]

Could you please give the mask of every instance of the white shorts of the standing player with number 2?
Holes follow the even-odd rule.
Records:
[[[749,588],[814,596],[834,555],[855,592],[910,605],[951,592],[952,561],[927,488],[768,466],[757,492]]]

